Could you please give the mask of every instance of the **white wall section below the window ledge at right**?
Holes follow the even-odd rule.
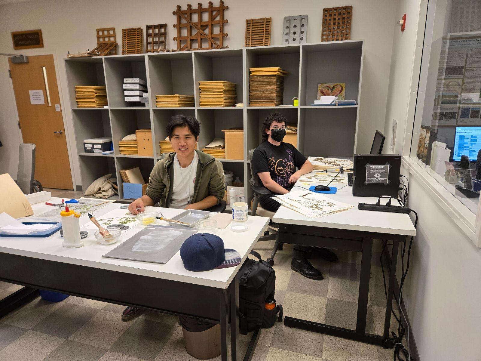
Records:
[[[409,207],[419,222],[403,297],[420,359],[479,361],[481,249],[413,177]]]

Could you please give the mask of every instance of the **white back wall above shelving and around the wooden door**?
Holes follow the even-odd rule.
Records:
[[[216,2],[215,2],[216,3]],[[95,29],[115,27],[117,42],[122,42],[122,28],[142,27],[147,24],[167,23],[167,47],[175,46],[172,38],[176,29],[172,27],[176,17],[172,14],[177,4],[187,6],[178,0],[36,0],[0,6],[0,52],[23,54],[53,53],[60,78],[63,115],[66,118],[67,136],[74,146],[70,104],[63,58],[67,51],[83,52],[95,46]],[[388,91],[388,77],[391,64],[392,33],[394,30],[395,0],[351,0],[353,5],[352,39],[365,39],[365,58],[360,103],[359,137],[357,151],[366,152],[372,143],[376,129],[384,128],[385,103]],[[205,1],[204,5],[207,5]],[[271,44],[280,44],[281,25],[284,16],[308,14],[309,42],[320,41],[322,9],[344,5],[335,0],[256,1],[227,0],[229,9],[225,13],[228,24],[226,45],[240,48],[244,45],[245,19],[272,17]],[[41,29],[44,49],[14,51],[11,31]],[[11,81],[7,76],[8,63],[0,59],[0,174],[9,172],[16,176],[16,147],[19,136],[16,125],[15,105]],[[5,141],[4,141],[5,139]],[[7,142],[8,141],[8,142]],[[8,145],[9,149],[6,149]],[[71,155],[74,164],[75,182],[80,184],[80,173],[76,154]]]

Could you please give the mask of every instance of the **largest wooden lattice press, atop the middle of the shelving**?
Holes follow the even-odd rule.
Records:
[[[177,29],[177,37],[174,38],[177,40],[177,51],[224,48],[224,37],[228,36],[224,33],[224,24],[228,23],[224,19],[224,10],[229,7],[222,0],[219,6],[212,6],[211,1],[207,8],[203,8],[200,2],[197,5],[197,9],[192,9],[192,5],[187,4],[187,10],[180,10],[180,5],[177,5],[177,10],[173,12],[177,15],[177,24],[174,24]]]

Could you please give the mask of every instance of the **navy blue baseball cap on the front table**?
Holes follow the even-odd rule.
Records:
[[[241,255],[234,249],[225,249],[224,241],[211,233],[196,233],[180,247],[180,258],[188,271],[209,271],[241,263]]]

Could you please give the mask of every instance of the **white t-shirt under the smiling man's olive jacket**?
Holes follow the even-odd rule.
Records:
[[[169,208],[182,209],[190,204],[188,201],[192,201],[198,163],[197,152],[194,152],[194,159],[186,168],[180,167],[177,154],[174,156],[174,187],[172,187]]]

